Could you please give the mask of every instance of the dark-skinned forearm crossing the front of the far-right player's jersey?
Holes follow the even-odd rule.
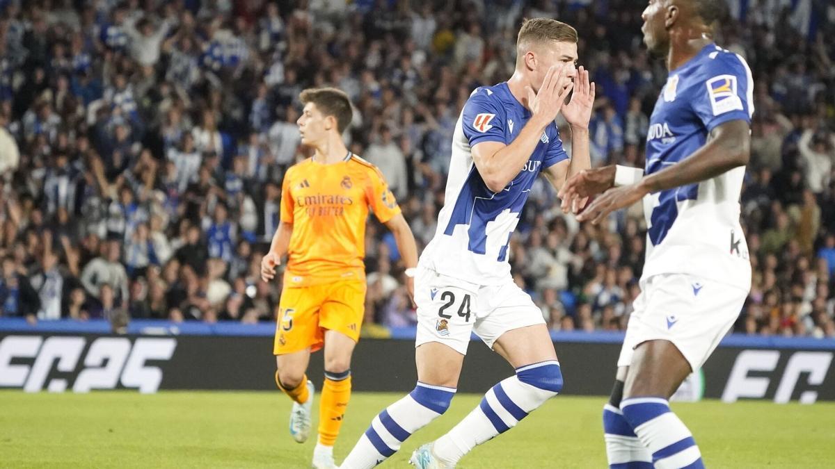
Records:
[[[645,176],[638,184],[644,187],[647,193],[657,192],[699,183],[739,166],[745,166],[751,154],[748,125],[743,121],[729,124],[730,129],[716,135],[716,138],[709,140],[701,149],[696,150],[696,153],[655,174]]]

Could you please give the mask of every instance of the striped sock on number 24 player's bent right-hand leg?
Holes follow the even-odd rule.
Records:
[[[468,416],[433,445],[433,453],[454,466],[477,445],[516,426],[529,412],[557,395],[563,376],[557,361],[543,361],[516,370],[516,375],[487,391]]]

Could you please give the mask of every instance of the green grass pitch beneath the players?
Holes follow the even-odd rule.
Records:
[[[348,406],[337,462],[395,394],[357,393]],[[478,404],[461,395],[382,467],[407,466],[419,444]],[[458,467],[604,468],[604,397],[558,396],[508,433],[478,446]],[[317,404],[316,404],[317,405]],[[316,408],[316,406],[314,407]],[[676,403],[708,467],[832,467],[835,404],[745,401]],[[315,437],[287,431],[290,400],[276,392],[0,392],[2,467],[309,467]],[[316,421],[314,421],[314,429]]]

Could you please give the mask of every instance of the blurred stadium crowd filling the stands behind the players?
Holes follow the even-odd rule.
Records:
[[[754,277],[736,331],[835,336],[835,7],[814,3],[804,35],[782,4],[752,3],[716,38],[756,82],[741,199]],[[579,31],[599,87],[592,164],[642,166],[666,77],[640,41],[643,7],[0,0],[2,315],[274,320],[281,281],[261,282],[260,260],[282,176],[305,158],[306,87],[350,95],[350,148],[385,174],[422,248],[458,113],[473,88],[513,72],[521,18]],[[510,259],[554,330],[622,330],[644,252],[640,204],[579,225],[540,180]],[[398,260],[371,219],[368,330],[415,322]]]

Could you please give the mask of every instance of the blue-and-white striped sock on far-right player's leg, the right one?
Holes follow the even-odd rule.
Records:
[[[649,448],[656,469],[704,469],[693,434],[660,397],[630,397],[620,411],[641,443]],[[640,467],[640,466],[622,466]]]

